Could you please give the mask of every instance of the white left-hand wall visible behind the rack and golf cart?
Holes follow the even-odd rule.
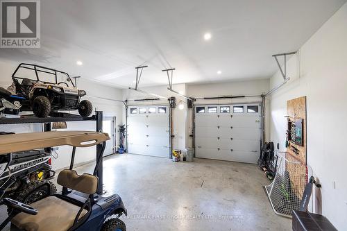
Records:
[[[15,71],[17,67],[17,62],[9,62],[8,60],[0,60],[0,87],[7,88],[12,84],[12,72]],[[116,117],[117,127],[123,124],[123,113],[124,106],[122,103],[117,103],[115,101],[109,101],[104,99],[92,98],[88,96],[103,97],[106,99],[121,99],[122,91],[114,87],[108,87],[105,85],[100,85],[98,83],[85,80],[83,78],[78,79],[78,88],[85,89],[87,96],[83,99],[88,99],[92,102],[94,109],[103,111],[104,117]],[[74,112],[78,113],[78,112]],[[69,122],[67,123],[67,130],[96,130],[95,121],[85,121],[85,122]],[[0,125],[1,131],[12,131],[12,132],[40,132],[42,127],[40,124],[26,124],[26,125]],[[117,145],[118,145],[118,133],[117,135]],[[52,159],[53,169],[61,169],[65,166],[69,166],[69,161],[71,157],[71,147],[61,146],[59,148],[59,158]],[[94,160],[96,156],[95,147],[92,148],[77,148],[76,149],[76,159],[75,163],[83,163]]]

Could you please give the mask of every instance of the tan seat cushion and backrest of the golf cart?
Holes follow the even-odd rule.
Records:
[[[57,182],[63,187],[74,189],[84,194],[95,194],[99,178],[87,173],[78,176],[76,171],[65,169],[59,173]],[[35,216],[22,212],[15,216],[11,223],[19,230],[65,231],[69,230],[76,221],[85,219],[83,216],[89,215],[87,209],[90,208],[87,208],[85,205],[78,206],[65,200],[63,196],[48,196],[30,205],[38,210]]]

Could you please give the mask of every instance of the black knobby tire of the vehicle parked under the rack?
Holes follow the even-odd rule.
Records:
[[[18,200],[26,205],[30,205],[37,200],[41,200],[47,196],[56,194],[56,192],[56,185],[49,180],[34,180],[26,185],[23,185],[17,194],[12,197],[12,199]],[[12,209],[8,209],[8,214],[10,214],[11,211]]]

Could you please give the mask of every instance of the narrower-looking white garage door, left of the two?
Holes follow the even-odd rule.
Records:
[[[169,157],[170,132],[167,106],[128,108],[128,153]]]

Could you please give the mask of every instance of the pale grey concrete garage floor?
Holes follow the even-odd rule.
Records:
[[[262,189],[269,181],[253,164],[127,154],[103,164],[106,195],[119,194],[128,209],[127,230],[291,230],[291,220],[271,209]]]

